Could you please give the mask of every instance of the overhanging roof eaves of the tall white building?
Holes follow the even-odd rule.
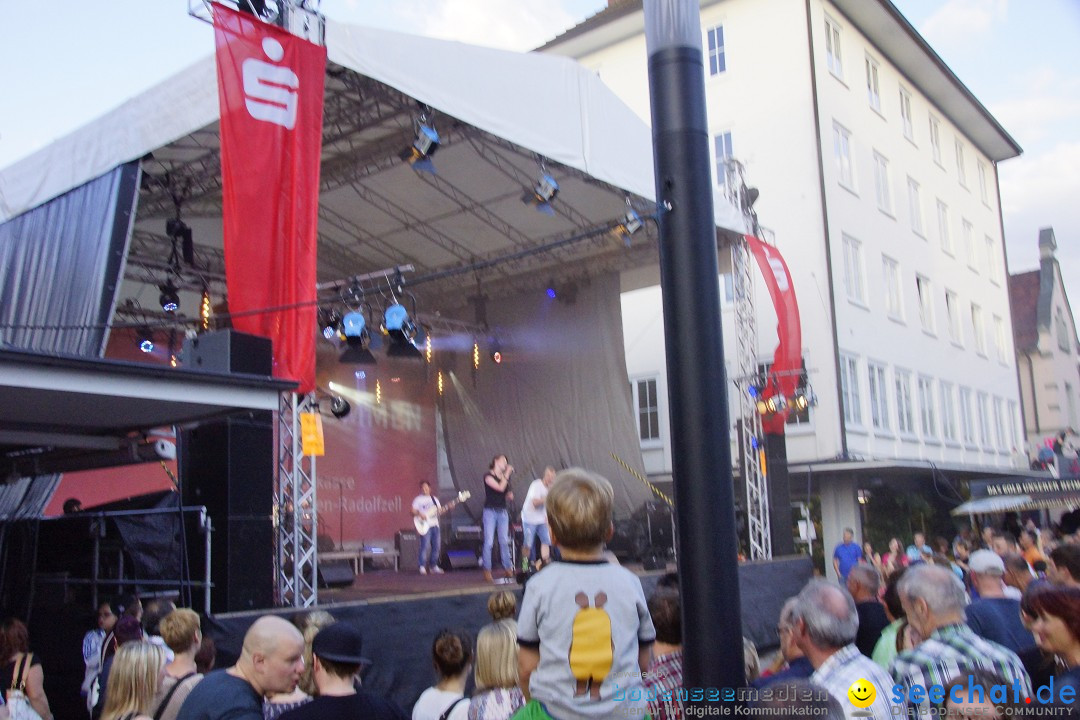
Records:
[[[712,5],[721,0],[701,0]],[[956,77],[945,60],[919,35],[890,0],[831,0],[848,22],[866,36],[881,51],[901,74],[961,128],[968,138],[994,162],[1015,158],[1023,152],[1004,127],[990,114],[968,86]],[[640,15],[639,23],[630,21]],[[563,51],[580,56],[579,50],[569,50],[567,43],[580,40],[590,32],[626,18],[625,37],[639,35],[644,28],[643,0],[609,0],[608,6],[585,18],[566,32],[548,41],[537,50]],[[633,29],[632,29],[633,28]],[[589,51],[591,52],[591,49]]]

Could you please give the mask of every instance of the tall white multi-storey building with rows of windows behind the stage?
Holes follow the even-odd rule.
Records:
[[[859,527],[860,484],[920,476],[929,492],[939,471],[1026,468],[997,174],[1021,148],[889,0],[702,0],[701,23],[716,181],[726,158],[745,166],[795,282],[820,402],[787,425],[787,452],[793,488],[812,475],[821,493],[826,549]],[[541,51],[595,70],[648,121],[644,24],[640,0],[611,0]],[[624,276],[623,308],[643,451],[661,475],[657,277]],[[764,364],[775,315],[762,282],[756,297]]]

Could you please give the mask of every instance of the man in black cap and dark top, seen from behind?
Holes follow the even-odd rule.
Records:
[[[408,720],[393,703],[357,690],[354,679],[368,661],[361,655],[364,638],[351,624],[339,621],[319,630],[311,643],[312,678],[319,695],[281,716],[281,720]]]

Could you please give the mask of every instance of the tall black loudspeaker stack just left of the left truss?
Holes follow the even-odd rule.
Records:
[[[180,434],[185,505],[205,505],[214,527],[214,612],[273,604],[273,417],[257,411]],[[189,536],[191,574],[201,578],[202,538]]]

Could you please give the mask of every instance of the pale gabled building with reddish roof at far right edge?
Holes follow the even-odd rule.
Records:
[[[1039,231],[1039,269],[1009,276],[1027,448],[1080,427],[1080,352],[1053,228]]]

